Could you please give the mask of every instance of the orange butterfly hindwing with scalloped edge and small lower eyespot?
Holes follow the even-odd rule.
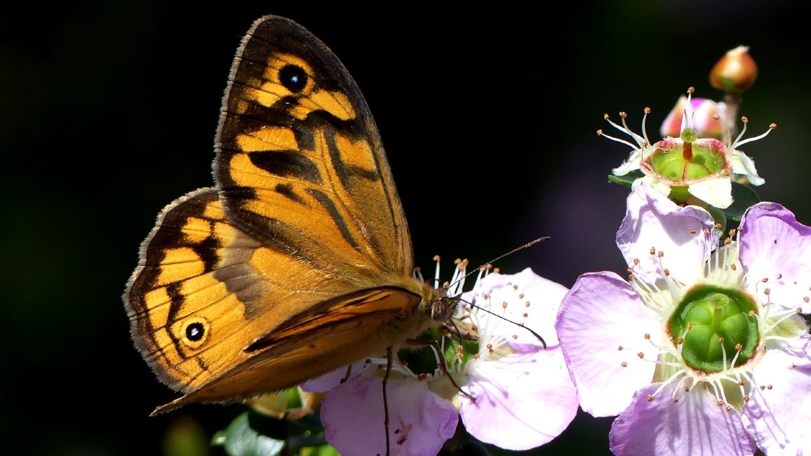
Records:
[[[215,189],[169,204],[125,295],[132,333],[161,380],[191,391],[250,358],[261,334],[355,290],[245,233]]]

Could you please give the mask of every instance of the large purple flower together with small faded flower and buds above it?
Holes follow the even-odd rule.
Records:
[[[731,206],[733,183],[764,183],[739,148],[776,125],[742,140],[744,117],[734,131],[740,94],[756,77],[747,49],[732,49],[710,72],[724,102],[692,98],[690,88],[654,144],[650,109],[642,136],[626,114],[621,126],[606,115],[636,143],[607,136],[633,148],[613,170],[634,177],[616,234],[629,276],[578,277],[556,329],[582,409],[617,415],[617,456],[811,448],[811,227],[756,195],[740,212],[714,209]],[[740,224],[723,232],[719,217]]]

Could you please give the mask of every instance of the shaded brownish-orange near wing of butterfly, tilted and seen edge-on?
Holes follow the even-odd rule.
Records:
[[[345,367],[346,359],[369,356],[371,346],[390,346],[397,333],[381,328],[398,316],[409,315],[420,300],[420,295],[408,290],[381,286],[318,303],[247,346],[245,352],[251,355],[247,360],[154,413],[188,402],[249,398],[298,385],[303,371],[319,376]]]

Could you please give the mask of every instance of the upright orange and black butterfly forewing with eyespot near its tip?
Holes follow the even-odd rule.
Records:
[[[282,252],[360,285],[410,273],[408,228],[366,102],[335,55],[288,19],[258,20],[238,49],[215,174],[228,213]]]

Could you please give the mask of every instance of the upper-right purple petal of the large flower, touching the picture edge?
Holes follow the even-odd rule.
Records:
[[[811,227],[777,203],[753,205],[740,226],[740,265],[747,277],[769,279],[771,302],[811,312],[804,299],[811,295]]]

